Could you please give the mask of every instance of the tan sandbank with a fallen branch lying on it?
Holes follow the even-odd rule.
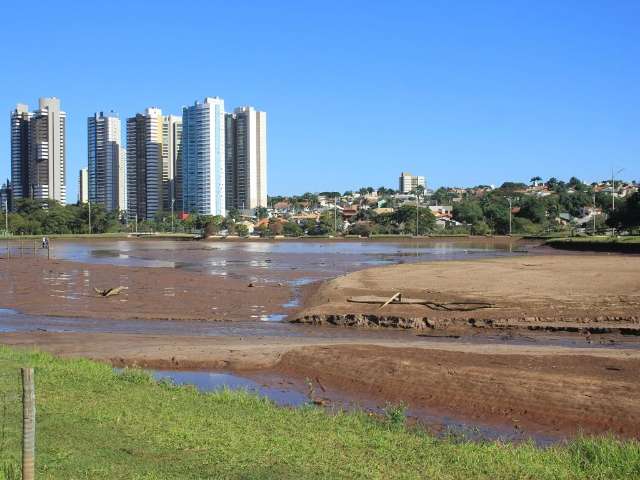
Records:
[[[393,265],[325,283],[295,321],[400,328],[640,334],[640,257],[553,255]],[[429,305],[352,303],[353,297]],[[469,304],[489,304],[471,309]]]

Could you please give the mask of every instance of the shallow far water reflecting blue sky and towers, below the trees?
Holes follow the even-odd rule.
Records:
[[[504,242],[417,241],[171,241],[58,240],[55,258],[135,267],[169,267],[278,282],[304,272],[305,281],[322,280],[362,268],[416,261],[520,255]],[[300,280],[297,280],[300,281]],[[298,285],[301,285],[298,284]]]

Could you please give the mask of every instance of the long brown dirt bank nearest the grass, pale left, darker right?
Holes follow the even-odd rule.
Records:
[[[115,366],[275,374],[319,398],[405,403],[529,434],[640,436],[640,351],[404,339],[196,337],[32,332],[2,343]]]

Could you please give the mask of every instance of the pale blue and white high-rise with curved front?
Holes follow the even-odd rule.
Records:
[[[225,215],[224,100],[207,97],[182,110],[182,209]]]

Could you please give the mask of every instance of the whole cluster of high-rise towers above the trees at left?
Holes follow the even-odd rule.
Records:
[[[66,114],[57,98],[11,112],[13,199],[66,202]],[[159,212],[225,215],[267,206],[267,117],[253,107],[225,112],[207,97],[182,115],[147,108],[122,122],[116,113],[87,119],[87,168],[78,200],[153,219]]]

